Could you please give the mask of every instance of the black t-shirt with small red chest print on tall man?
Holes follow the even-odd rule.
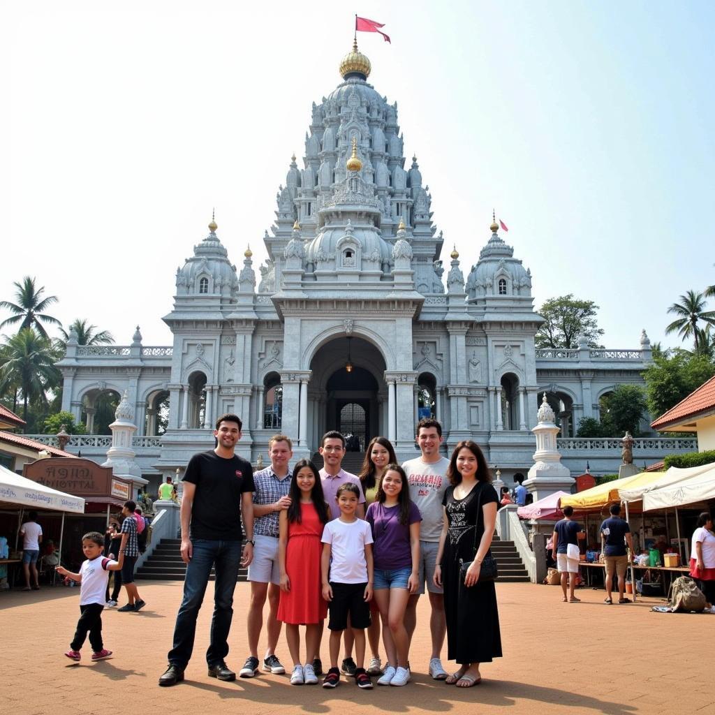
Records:
[[[214,450],[194,454],[184,482],[196,485],[191,538],[241,541],[241,497],[254,490],[251,465],[238,455],[220,457]]]

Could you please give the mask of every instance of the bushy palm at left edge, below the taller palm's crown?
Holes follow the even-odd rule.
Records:
[[[46,390],[56,388],[61,374],[54,363],[59,358],[49,337],[38,335],[31,327],[25,327],[16,335],[4,336],[0,365],[0,384],[17,385],[22,396],[23,415],[27,421],[27,405],[37,400],[47,402]]]

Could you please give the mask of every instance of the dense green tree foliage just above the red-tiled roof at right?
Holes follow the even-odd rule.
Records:
[[[654,419],[684,400],[693,390],[715,375],[715,364],[707,355],[669,350],[653,355],[653,365],[643,373],[648,410]]]

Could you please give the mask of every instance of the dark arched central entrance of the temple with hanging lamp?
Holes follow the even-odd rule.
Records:
[[[315,353],[310,369],[313,448],[329,430],[345,435],[352,452],[363,452],[375,435],[387,433],[385,360],[375,345],[360,337],[338,337]]]

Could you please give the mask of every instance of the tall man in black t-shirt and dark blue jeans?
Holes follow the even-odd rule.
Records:
[[[181,556],[187,563],[186,579],[174,627],[174,646],[168,656],[169,667],[159,678],[162,686],[184,679],[194,647],[196,619],[212,567],[216,581],[211,643],[206,652],[209,676],[219,680],[236,678],[225,661],[233,616],[233,591],[239,566],[248,566],[253,558],[253,471],[250,463],[234,452],[241,438],[241,428],[237,415],[218,418],[214,430],[216,448],[194,455],[184,473]],[[243,554],[241,516],[246,530]]]

